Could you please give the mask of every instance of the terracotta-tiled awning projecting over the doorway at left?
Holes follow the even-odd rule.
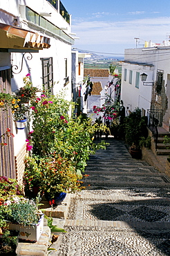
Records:
[[[50,38],[38,33],[0,23],[0,48],[43,50],[50,47]]]

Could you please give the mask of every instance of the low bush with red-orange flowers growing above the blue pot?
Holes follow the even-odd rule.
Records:
[[[24,184],[26,190],[32,190],[36,186],[41,194],[48,193],[51,198],[55,196],[56,192],[79,190],[79,176],[67,158],[62,158],[55,153],[52,157],[46,158],[28,156],[25,165]]]

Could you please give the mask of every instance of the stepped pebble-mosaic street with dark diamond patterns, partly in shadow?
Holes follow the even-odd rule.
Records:
[[[72,195],[67,233],[50,255],[170,255],[170,178],[107,142],[89,159],[86,190]]]

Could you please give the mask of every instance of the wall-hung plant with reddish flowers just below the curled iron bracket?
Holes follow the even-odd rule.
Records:
[[[15,93],[22,103],[28,103],[30,100],[36,98],[36,94],[40,90],[37,87],[32,86],[29,73],[26,75],[26,77],[23,77],[23,84],[24,86],[15,91]]]

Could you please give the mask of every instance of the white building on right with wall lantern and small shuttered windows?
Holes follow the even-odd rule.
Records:
[[[126,49],[122,62],[121,98],[124,107],[153,113],[159,125],[169,131],[170,123],[170,46]],[[147,74],[142,82],[140,75]]]

